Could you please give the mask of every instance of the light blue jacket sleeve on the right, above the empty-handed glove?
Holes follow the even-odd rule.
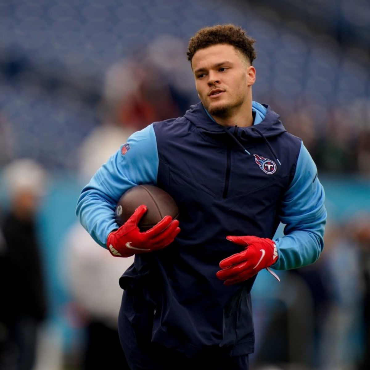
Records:
[[[295,176],[283,196],[280,219],[284,236],[276,239],[277,270],[299,268],[315,262],[324,248],[325,194],[317,169],[302,143]]]

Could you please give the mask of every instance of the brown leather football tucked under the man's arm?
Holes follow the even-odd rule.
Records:
[[[148,207],[139,222],[141,231],[152,228],[164,216],[178,218],[179,209],[171,195],[154,185],[137,185],[128,189],[117,203],[115,218],[118,225],[123,225],[141,204]]]

